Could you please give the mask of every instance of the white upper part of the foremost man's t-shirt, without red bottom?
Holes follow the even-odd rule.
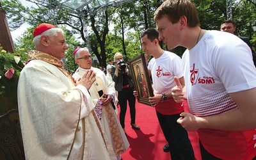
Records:
[[[182,56],[188,105],[196,116],[237,108],[228,93],[256,87],[256,68],[248,45],[236,35],[207,31]]]

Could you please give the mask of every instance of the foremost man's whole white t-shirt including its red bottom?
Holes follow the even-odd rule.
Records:
[[[256,87],[252,52],[243,40],[230,33],[207,31],[193,49],[184,52],[182,65],[189,110],[196,116],[218,115],[235,109],[237,104],[228,93]],[[205,150],[215,157],[255,157],[255,129],[198,129],[197,132]]]

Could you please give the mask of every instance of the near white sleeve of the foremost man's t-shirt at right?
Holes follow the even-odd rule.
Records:
[[[212,56],[212,66],[216,68],[216,74],[228,93],[256,87],[256,68],[253,65],[252,52],[246,44],[222,46]]]

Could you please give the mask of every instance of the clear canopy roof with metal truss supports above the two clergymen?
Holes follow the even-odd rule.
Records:
[[[121,6],[125,3],[130,3],[134,0],[26,0],[35,3],[38,6],[49,8],[49,15],[52,17],[52,24],[56,24],[56,10],[66,8],[70,12],[76,13],[80,17],[85,17],[84,13],[92,15],[95,12],[108,10],[111,7]],[[84,35],[88,36],[88,31],[83,19]],[[86,38],[86,46],[90,49],[90,39]]]

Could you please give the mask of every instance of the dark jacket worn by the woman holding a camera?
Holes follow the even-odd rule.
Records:
[[[124,74],[125,74],[125,77],[129,83],[130,87],[133,87],[134,84],[132,82],[132,74],[131,74],[129,65],[127,65],[127,68],[129,70],[129,72],[128,72],[128,74],[125,74],[125,73]],[[119,92],[119,91],[122,91],[122,86],[123,86],[123,75],[122,74],[123,73],[122,73],[122,70],[119,68],[118,77],[116,77],[115,70],[116,70],[115,66],[111,67],[111,76],[112,76],[113,81],[115,82],[115,90]]]

